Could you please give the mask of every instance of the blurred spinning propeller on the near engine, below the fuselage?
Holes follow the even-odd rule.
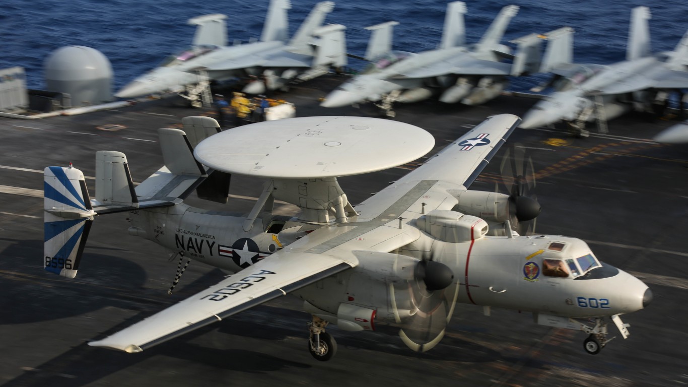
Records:
[[[423,259],[413,269],[408,282],[410,317],[399,331],[404,344],[416,352],[436,346],[451,320],[458,297],[458,284],[449,266]]]

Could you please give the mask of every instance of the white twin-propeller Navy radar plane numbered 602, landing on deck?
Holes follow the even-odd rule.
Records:
[[[582,240],[512,229],[540,211],[524,195],[532,163],[510,167],[508,195],[468,189],[517,116],[488,118],[356,207],[338,176],[415,160],[433,149],[431,134],[365,117],[291,118],[225,132],[212,118],[182,121],[184,130],[159,129],[165,166],[137,187],[118,151],[96,153],[92,200],[78,169],[45,169],[47,271],[74,278],[94,216],[133,210],[131,235],[235,272],[89,345],[138,353],[291,293],[312,314],[308,349],[323,361],[336,352],[327,324],[399,326],[409,348],[428,351],[456,303],[532,312],[539,324],[588,333],[585,350],[598,353],[610,341],[607,319],[627,337],[619,316],[652,300],[641,280],[600,262]],[[230,174],[266,178],[248,215],[182,201],[194,189],[226,200]],[[300,215],[273,215],[275,200],[297,205]]]

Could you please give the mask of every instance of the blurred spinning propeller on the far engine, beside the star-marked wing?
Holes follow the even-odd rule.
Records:
[[[533,160],[526,158],[523,147],[506,149],[499,167],[502,183],[509,195],[509,221],[519,235],[535,232],[535,218],[540,213],[540,204],[535,196],[535,169]]]

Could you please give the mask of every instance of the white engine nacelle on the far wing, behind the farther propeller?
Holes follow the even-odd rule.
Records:
[[[509,219],[509,196],[487,191],[454,191],[459,200],[455,211],[477,216],[489,222],[504,222]]]

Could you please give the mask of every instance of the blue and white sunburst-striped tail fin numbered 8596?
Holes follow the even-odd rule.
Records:
[[[47,167],[43,191],[45,270],[74,278],[96,215],[84,175],[73,167]]]

